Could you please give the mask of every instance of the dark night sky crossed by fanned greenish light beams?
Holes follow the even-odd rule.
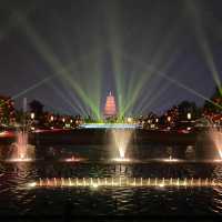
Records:
[[[220,82],[220,0],[0,6],[0,94],[17,107],[27,97],[58,112],[87,113],[102,108],[111,90],[131,102],[129,113],[160,113],[182,100],[203,104]]]

